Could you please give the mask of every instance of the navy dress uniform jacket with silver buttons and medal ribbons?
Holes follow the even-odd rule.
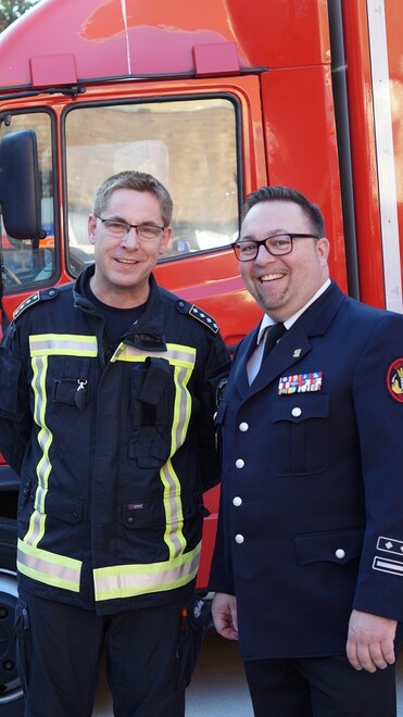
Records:
[[[403,618],[403,316],[331,286],[221,402],[211,589],[243,659],[345,653],[352,608]]]

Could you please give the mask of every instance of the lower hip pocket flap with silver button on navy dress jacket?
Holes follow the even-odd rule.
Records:
[[[297,558],[300,565],[326,561],[349,563],[358,557],[364,541],[364,530],[336,530],[295,536]]]

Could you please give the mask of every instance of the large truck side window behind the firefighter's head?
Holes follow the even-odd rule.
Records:
[[[92,261],[87,217],[98,185],[148,172],[174,200],[162,261],[227,247],[238,229],[236,109],[224,98],[91,105],[65,115],[70,267]]]

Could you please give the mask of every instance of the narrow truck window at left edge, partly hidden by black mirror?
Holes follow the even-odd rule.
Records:
[[[11,131],[33,129],[37,137],[41,179],[41,221],[47,232],[45,239],[14,239],[10,237],[1,219],[1,275],[3,291],[17,293],[32,287],[40,288],[55,276],[54,214],[52,191],[51,122],[49,114],[8,114],[1,124],[0,138]]]

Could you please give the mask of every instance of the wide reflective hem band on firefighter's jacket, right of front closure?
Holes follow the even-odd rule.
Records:
[[[134,598],[180,588],[196,577],[200,549],[201,543],[190,553],[166,563],[97,568],[93,570],[96,601]]]

